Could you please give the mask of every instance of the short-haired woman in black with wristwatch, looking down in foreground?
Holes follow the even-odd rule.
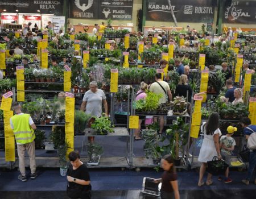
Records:
[[[72,151],[68,155],[70,161],[68,168],[67,194],[69,198],[90,199],[92,186],[88,168],[80,160],[78,151]]]

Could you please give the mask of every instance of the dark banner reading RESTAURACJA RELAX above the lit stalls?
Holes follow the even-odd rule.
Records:
[[[63,5],[64,0],[7,0],[2,1],[0,10],[6,9],[9,13],[16,13],[16,10],[19,10],[19,13],[38,13],[40,10],[40,14],[62,15]],[[18,20],[18,16],[9,20]]]

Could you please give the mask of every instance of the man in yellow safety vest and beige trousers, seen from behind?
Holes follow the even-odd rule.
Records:
[[[10,125],[13,129],[15,140],[17,143],[17,151],[19,156],[19,180],[26,182],[26,168],[25,168],[25,151],[30,157],[30,179],[35,179],[36,163],[35,163],[35,134],[36,126],[29,114],[22,113],[19,102],[13,103],[13,110],[15,115],[10,119]]]

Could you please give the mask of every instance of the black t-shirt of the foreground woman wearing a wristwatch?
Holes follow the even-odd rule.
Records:
[[[80,180],[85,180],[85,181],[89,181],[90,180],[90,175],[88,172],[88,168],[86,167],[85,164],[82,164],[79,168],[73,170],[72,165],[69,165],[69,169],[68,169],[68,176],[71,176],[75,179],[80,179]],[[80,185],[77,183],[73,183],[73,182],[68,182],[69,188],[75,188],[75,187],[80,187],[83,190],[92,190],[92,186],[89,185]]]

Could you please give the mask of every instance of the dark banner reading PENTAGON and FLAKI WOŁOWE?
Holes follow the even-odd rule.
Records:
[[[74,0],[69,8],[69,18],[131,20],[133,0]]]

